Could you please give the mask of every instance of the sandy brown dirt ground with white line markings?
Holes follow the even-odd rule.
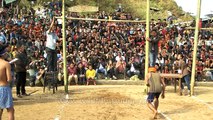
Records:
[[[64,87],[56,94],[43,93],[41,87],[27,87],[30,96],[15,97],[16,120],[149,120],[144,86],[97,85]],[[213,88],[196,87],[195,97],[179,96],[173,87],[166,88],[160,99],[159,120],[213,120]],[[7,120],[6,110],[3,120]]]

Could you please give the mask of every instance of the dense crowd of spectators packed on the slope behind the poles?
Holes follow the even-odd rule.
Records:
[[[11,12],[12,10],[12,12]],[[7,14],[7,11],[10,11]],[[46,31],[53,16],[61,15],[61,3],[51,2],[44,9],[21,8],[19,11],[9,8],[1,13],[0,40],[9,44],[8,53],[16,54],[16,45],[25,45],[29,58],[29,73],[35,81],[37,73],[45,68]],[[14,12],[15,11],[15,12]],[[95,14],[79,15],[69,13],[67,17],[133,20],[130,13],[117,10],[108,14],[99,11]],[[208,24],[213,24],[212,21]],[[55,22],[56,34],[62,37],[62,20]],[[76,84],[85,83],[85,74],[89,65],[96,73],[103,73],[106,79],[118,79],[118,74],[131,78],[137,75],[144,79],[145,70],[145,23],[101,22],[85,20],[67,20],[66,23],[67,61],[70,80]],[[159,39],[156,64],[162,73],[178,73],[178,54],[182,54],[189,70],[192,64],[194,30],[186,29],[182,24],[172,24],[167,20],[152,20],[151,31],[157,31]],[[151,36],[152,37],[152,34]],[[58,63],[62,62],[62,41],[57,41]],[[57,66],[62,73],[62,64]],[[200,31],[196,63],[196,80],[213,80],[213,34]],[[84,70],[83,70],[84,69]],[[63,74],[63,73],[62,73]],[[98,74],[96,78],[99,79]],[[81,80],[80,80],[81,79]]]

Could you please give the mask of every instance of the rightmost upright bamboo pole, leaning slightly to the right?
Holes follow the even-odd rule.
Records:
[[[199,35],[199,22],[200,22],[200,8],[201,0],[197,0],[197,17],[196,17],[196,27],[195,27],[195,39],[194,39],[194,49],[193,49],[193,61],[192,61],[192,76],[191,76],[191,95],[194,95],[194,84],[195,84],[195,70],[196,70],[196,59],[197,59],[197,42]]]

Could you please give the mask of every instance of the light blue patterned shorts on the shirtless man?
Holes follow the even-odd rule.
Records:
[[[0,109],[13,107],[12,91],[9,86],[0,86]]]

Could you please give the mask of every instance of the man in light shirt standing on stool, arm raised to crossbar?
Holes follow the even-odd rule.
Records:
[[[56,41],[59,40],[55,33],[54,26],[55,18],[50,25],[50,29],[47,31],[47,42],[46,42],[46,52],[47,52],[47,70],[56,71],[57,70],[57,52],[56,52]]]

